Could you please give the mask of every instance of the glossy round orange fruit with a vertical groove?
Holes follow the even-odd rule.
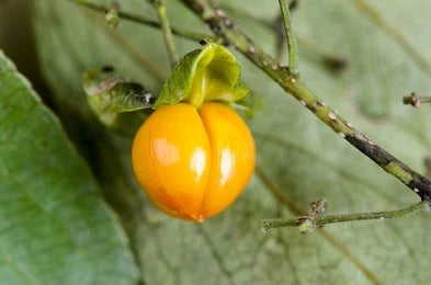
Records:
[[[156,110],[137,132],[132,163],[165,213],[203,221],[229,206],[250,180],[254,141],[242,118],[220,103]]]

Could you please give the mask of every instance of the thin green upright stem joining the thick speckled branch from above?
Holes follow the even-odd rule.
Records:
[[[293,75],[298,76],[298,50],[296,47],[296,38],[292,32],[291,12],[286,0],[279,0],[280,10],[282,12],[284,32],[286,33],[287,47],[288,47],[288,68]]]

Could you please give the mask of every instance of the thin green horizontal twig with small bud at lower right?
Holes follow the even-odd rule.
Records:
[[[311,221],[314,227],[322,227],[327,224],[371,220],[371,219],[395,219],[408,216],[415,216],[423,210],[429,210],[429,203],[426,201],[419,202],[407,208],[386,210],[386,212],[368,212],[368,213],[353,213],[341,215],[325,215],[318,217],[310,217],[308,215],[294,218],[279,218],[279,219],[262,219],[261,226],[263,231],[274,228],[284,227],[299,227],[306,221]]]

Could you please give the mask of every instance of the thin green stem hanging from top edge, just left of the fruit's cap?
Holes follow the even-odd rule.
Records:
[[[157,11],[157,15],[161,25],[161,31],[163,33],[165,44],[168,49],[169,60],[171,61],[171,66],[173,67],[177,65],[178,59],[175,44],[173,43],[171,24],[167,14],[165,0],[149,0],[149,2]]]

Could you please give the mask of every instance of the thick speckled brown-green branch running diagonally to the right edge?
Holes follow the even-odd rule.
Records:
[[[431,181],[410,169],[393,155],[373,142],[367,136],[355,129],[341,117],[338,112],[317,98],[300,80],[280,62],[256,45],[238,26],[235,26],[225,13],[220,13],[204,0],[181,0],[196,15],[199,15],[213,33],[220,36],[228,44],[235,46],[257,67],[277,82],[287,93],[292,94],[332,130],[349,141],[376,164],[390,173],[423,201],[431,203]]]

